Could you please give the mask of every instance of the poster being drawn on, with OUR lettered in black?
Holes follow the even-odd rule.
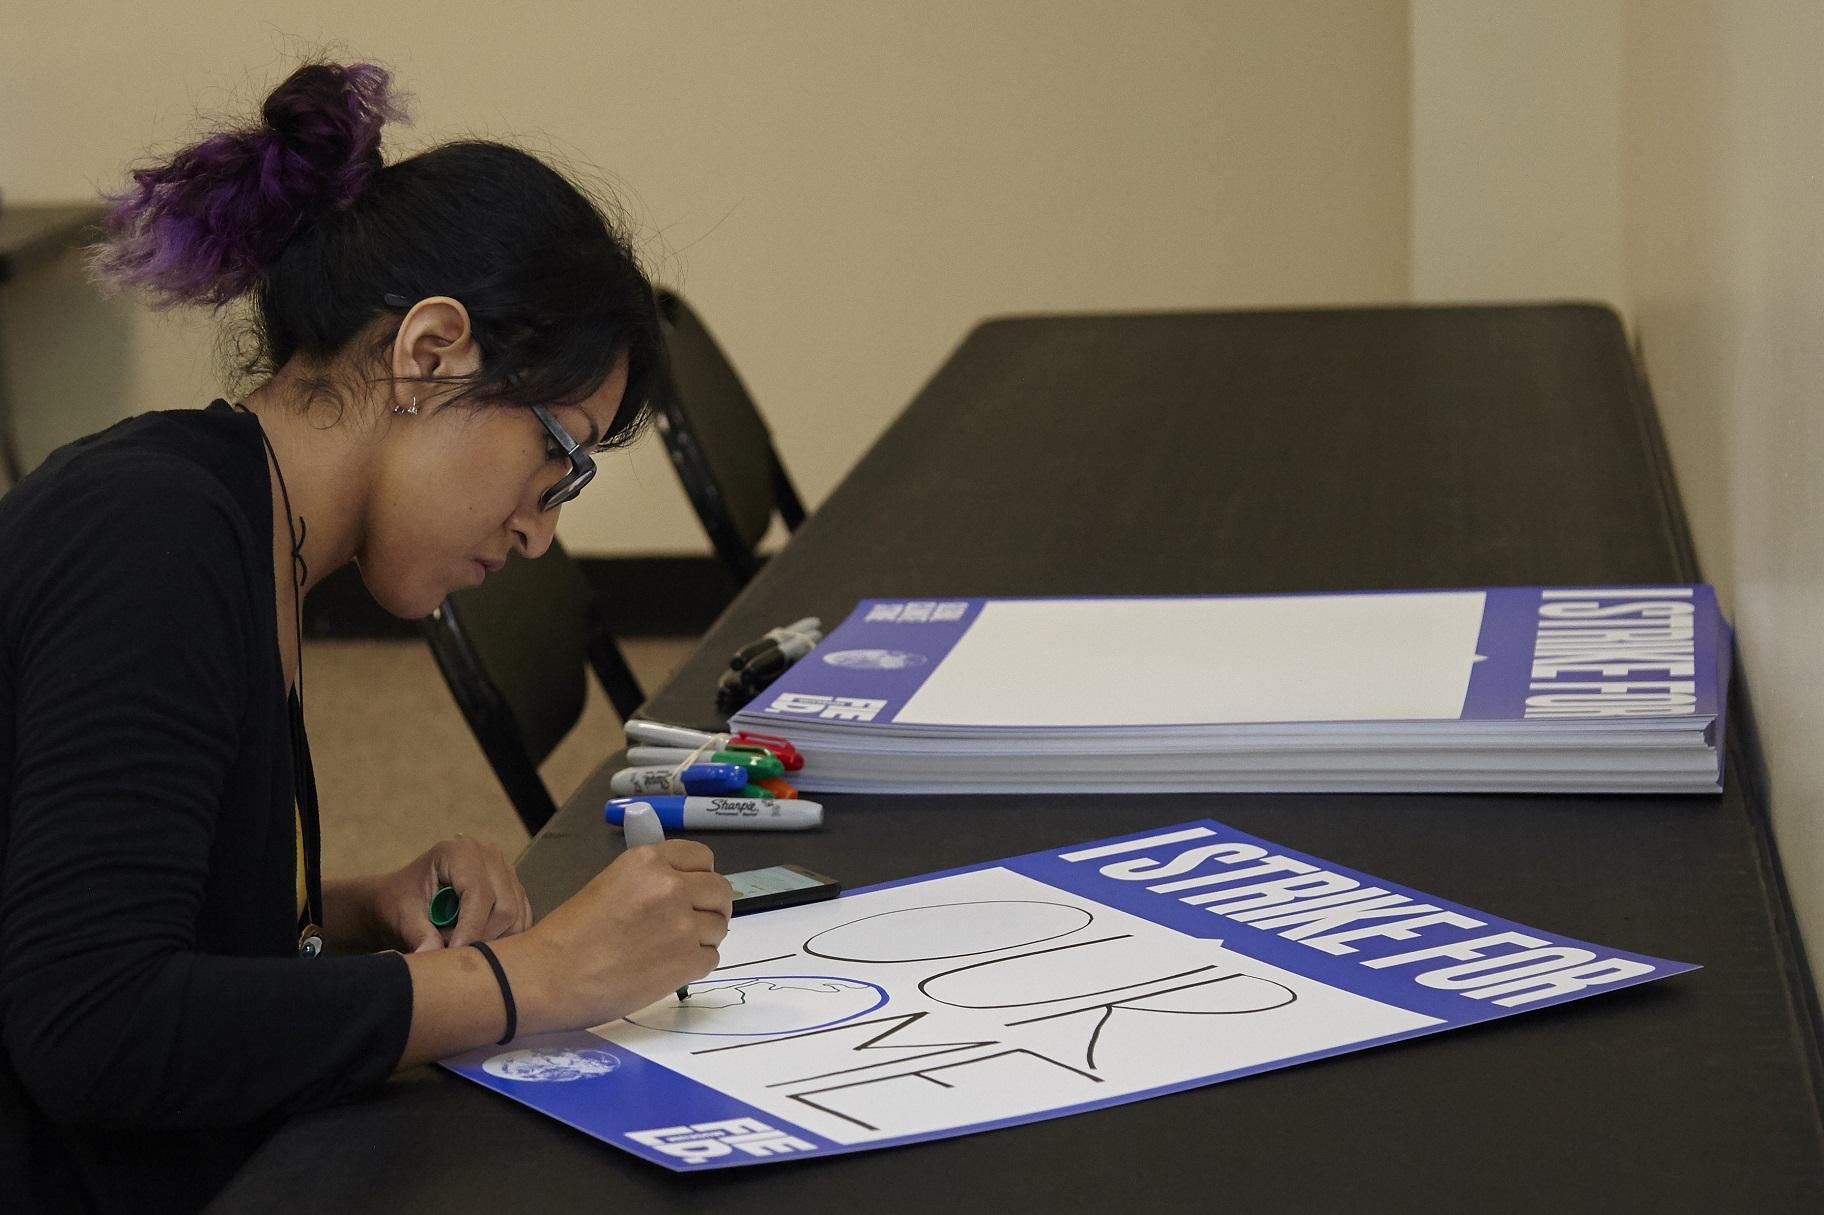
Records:
[[[1204,819],[737,919],[591,1031],[445,1060],[677,1171],[1093,1113],[1694,967]]]

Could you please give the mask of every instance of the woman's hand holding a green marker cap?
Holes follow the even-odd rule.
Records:
[[[445,929],[430,923],[430,896],[438,887],[456,887],[461,898],[461,912],[447,929],[447,941]],[[381,936],[414,954],[492,941],[533,927],[533,903],[507,857],[494,845],[467,836],[445,839],[410,865],[381,876],[372,898]]]

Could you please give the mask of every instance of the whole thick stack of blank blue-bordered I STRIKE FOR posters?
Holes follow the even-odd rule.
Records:
[[[865,600],[731,728],[815,792],[1715,794],[1709,586]]]

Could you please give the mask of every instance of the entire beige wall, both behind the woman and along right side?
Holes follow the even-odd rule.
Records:
[[[1824,971],[1815,0],[171,7],[0,0],[0,188],[119,181],[339,38],[418,93],[399,146],[480,131],[611,171],[814,502],[994,312],[1620,305]],[[201,327],[97,305],[73,265],[0,327],[35,441],[212,390]],[[569,544],[702,551],[657,449],[618,463]]]

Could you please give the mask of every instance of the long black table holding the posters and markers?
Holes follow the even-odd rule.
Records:
[[[1603,308],[996,319],[648,715],[715,724],[737,646],[865,597],[1698,576]],[[792,859],[865,885],[1207,815],[1693,974],[1087,1115],[700,1177],[421,1069],[288,1124],[219,1210],[1824,1210],[1815,998],[1742,710],[1711,797],[830,795],[823,832],[710,841],[722,868]],[[542,910],[618,850],[600,821],[615,766],[522,857]]]

